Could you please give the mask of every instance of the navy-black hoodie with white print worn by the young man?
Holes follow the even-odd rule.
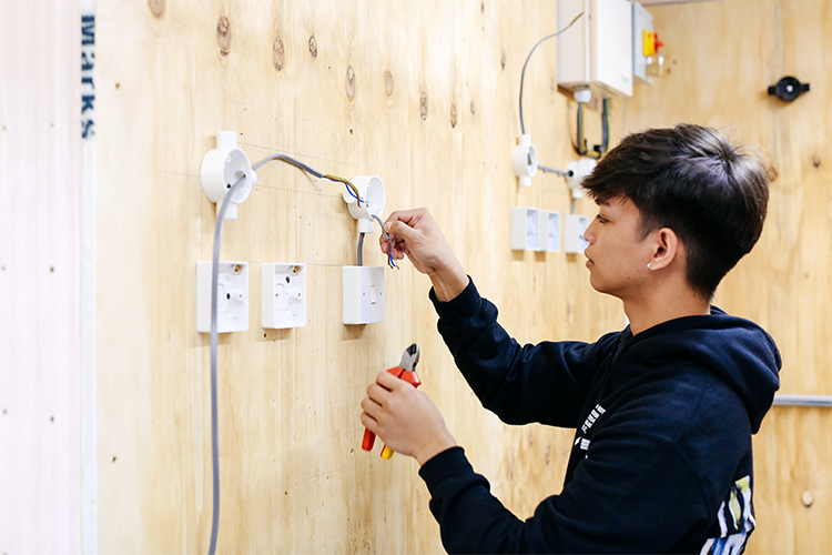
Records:
[[[576,428],[564,488],[518,519],[460,447],[420,468],[449,553],[742,553],[754,528],[751,434],[779,386],[757,324],[711,315],[596,343],[520,346],[474,283],[430,299],[483,405],[508,424]]]

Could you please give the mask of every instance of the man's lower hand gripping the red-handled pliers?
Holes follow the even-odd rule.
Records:
[[[439,410],[425,393],[382,372],[362,401],[362,424],[393,451],[410,455],[419,465],[456,446]]]

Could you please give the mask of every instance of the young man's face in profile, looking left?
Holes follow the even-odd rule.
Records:
[[[589,283],[596,291],[623,301],[642,292],[652,242],[639,241],[639,210],[623,195],[598,203],[598,215],[584,233]]]

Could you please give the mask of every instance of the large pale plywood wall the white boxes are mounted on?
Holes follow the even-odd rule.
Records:
[[[519,191],[509,162],[522,62],[556,29],[555,10],[544,0],[98,2],[102,553],[207,549],[209,337],[196,333],[195,269],[212,252],[199,168],[219,131],[236,131],[253,161],[283,152],[381,176],[385,215],[429,208],[519,341],[621,327],[620,304],[590,290],[582,256],[509,248],[511,206],[568,211],[562,180],[539,174]],[[527,130],[540,161],[564,168],[575,105],[557,92],[555,41],[535,56]],[[588,125],[597,142],[597,114]],[[357,241],[342,188],[278,163],[258,176],[222,244],[223,260],[251,263],[253,294],[250,330],[220,341],[219,552],[442,551],[416,463],[359,448],[367,384],[414,341],[424,390],[507,506],[527,517],[559,492],[571,433],[508,428],[479,406],[436,332],[428,280],[407,262],[386,273],[383,324],[341,323],[341,269]],[[376,239],[365,259],[383,265]],[[307,264],[305,327],[261,327],[265,262]]]

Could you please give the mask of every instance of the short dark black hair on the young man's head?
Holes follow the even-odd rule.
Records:
[[[626,137],[584,186],[596,202],[621,194],[632,201],[641,240],[673,230],[687,254],[688,283],[708,299],[760,239],[769,202],[760,158],[693,124]]]

